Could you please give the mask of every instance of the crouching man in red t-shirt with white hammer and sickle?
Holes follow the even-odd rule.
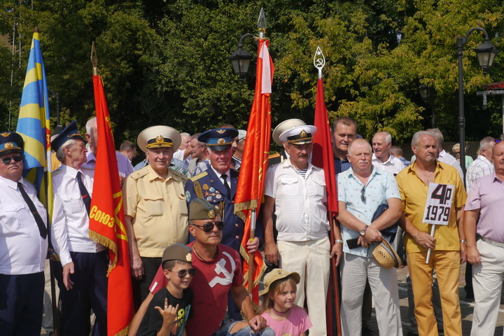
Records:
[[[188,246],[193,251],[193,267],[197,272],[190,283],[193,290],[193,317],[186,324],[187,335],[227,336],[234,332],[233,335],[236,336],[274,336],[274,331],[267,328],[265,318],[255,314],[251,299],[243,286],[241,260],[237,251],[219,244],[223,222],[217,209],[203,198],[193,200],[190,203],[188,230],[195,237],[195,241]],[[159,269],[149,288],[151,293],[137,311],[128,335],[136,334],[153,295],[164,286],[166,278],[162,269]],[[229,292],[248,321],[223,321]]]

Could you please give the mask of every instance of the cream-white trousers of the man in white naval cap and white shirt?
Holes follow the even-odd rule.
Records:
[[[310,335],[326,336],[325,302],[329,283],[329,238],[309,241],[278,241],[279,266],[300,274],[296,304],[304,307],[307,299],[308,316],[313,327]]]

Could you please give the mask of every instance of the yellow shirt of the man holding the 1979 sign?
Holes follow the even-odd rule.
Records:
[[[460,239],[458,237],[458,226],[456,224],[455,208],[462,207],[465,204],[465,188],[460,174],[457,170],[445,163],[437,162],[434,173],[434,183],[449,184],[455,186],[454,199],[451,203],[448,225],[436,225],[434,237],[436,239],[434,250],[437,251],[459,251]],[[430,234],[430,225],[423,223],[423,212],[425,211],[428,185],[421,181],[416,174],[416,162],[402,169],[395,176],[398,181],[399,191],[402,199],[402,209],[406,217],[421,232]],[[415,239],[405,233],[404,246],[407,253],[427,251],[427,249],[416,243]]]

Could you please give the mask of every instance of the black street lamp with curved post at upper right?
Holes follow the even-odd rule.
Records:
[[[482,45],[475,48],[479,66],[483,69],[483,73],[488,73],[487,71],[493,64],[493,59],[495,59],[499,50],[489,43],[490,39],[488,34],[483,28],[475,27],[470,29],[465,36],[457,37],[457,55],[458,55],[458,129],[459,129],[459,142],[461,145],[461,168],[463,171],[463,182],[465,184],[465,111],[464,111],[464,101],[463,101],[463,69],[462,69],[462,57],[463,57],[463,45],[467,43],[469,35],[472,31],[482,31],[485,34],[485,41]]]

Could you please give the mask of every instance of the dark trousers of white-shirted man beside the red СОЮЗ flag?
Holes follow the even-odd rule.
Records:
[[[62,336],[88,336],[90,308],[96,316],[92,335],[106,336],[108,251],[70,252],[75,272],[71,290],[58,280],[62,300]],[[39,330],[40,332],[40,330]],[[87,332],[87,335],[86,335]]]

